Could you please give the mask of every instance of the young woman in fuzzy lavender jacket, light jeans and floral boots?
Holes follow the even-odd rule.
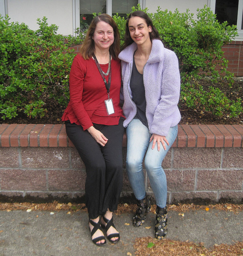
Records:
[[[142,161],[156,200],[155,237],[167,233],[167,185],[161,163],[177,136],[180,74],[175,53],[165,49],[152,20],[142,11],[128,16],[119,54],[123,80],[123,113],[127,127],[127,174],[137,199],[134,226],[150,210]]]

